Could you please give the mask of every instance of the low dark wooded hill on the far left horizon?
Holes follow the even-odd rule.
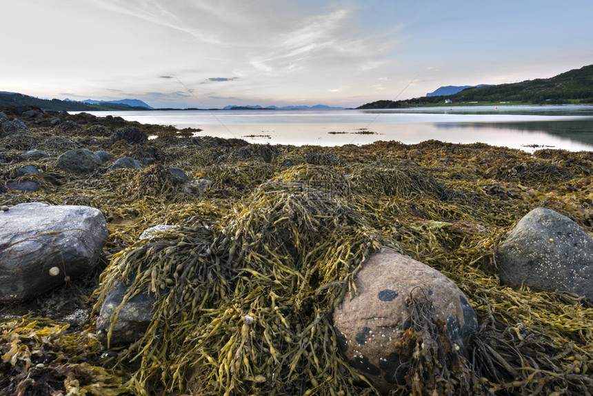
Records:
[[[118,106],[117,104],[88,104],[60,99],[39,99],[19,93],[0,93],[0,106],[37,106],[43,110],[56,111],[147,110],[143,107]]]

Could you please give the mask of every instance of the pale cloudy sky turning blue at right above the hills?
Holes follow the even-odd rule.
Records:
[[[0,0],[0,91],[355,107],[593,63],[591,0]]]

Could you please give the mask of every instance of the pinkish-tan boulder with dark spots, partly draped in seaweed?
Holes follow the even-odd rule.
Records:
[[[336,306],[334,328],[343,355],[383,395],[405,383],[410,356],[394,344],[411,326],[408,297],[432,301],[434,319],[446,324],[447,337],[462,352],[477,328],[474,309],[448,277],[394,250],[369,257],[355,283],[359,295]]]

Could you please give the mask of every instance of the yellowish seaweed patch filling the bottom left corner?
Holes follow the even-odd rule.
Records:
[[[101,344],[91,329],[12,319],[0,324],[4,395],[128,394],[123,373],[98,366]]]

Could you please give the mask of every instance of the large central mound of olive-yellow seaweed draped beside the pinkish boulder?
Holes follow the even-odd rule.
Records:
[[[381,237],[348,206],[273,182],[221,224],[176,232],[117,254],[102,275],[99,301],[130,275],[128,295],[158,296],[150,328],[126,353],[141,360],[138,393],[158,382],[204,395],[365,392],[339,353],[331,312],[355,293],[353,277]]]

